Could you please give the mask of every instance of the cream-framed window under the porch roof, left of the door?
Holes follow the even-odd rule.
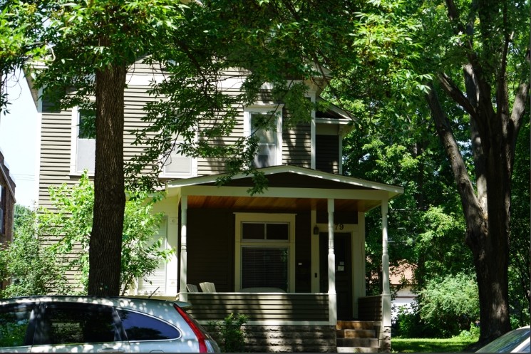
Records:
[[[294,291],[294,231],[294,214],[237,213],[237,286]]]

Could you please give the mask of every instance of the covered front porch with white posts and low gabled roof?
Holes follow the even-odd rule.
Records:
[[[326,351],[335,345],[338,320],[373,321],[378,333],[390,329],[386,215],[401,187],[293,166],[262,172],[268,188],[253,197],[252,179],[244,175],[222,187],[217,176],[167,183],[179,206],[178,298],[192,303],[203,324],[241,313],[265,332],[308,333],[325,342],[319,347],[306,338],[309,347],[290,351]],[[382,214],[384,276],[381,296],[368,298],[364,217],[375,207]],[[187,291],[202,281],[215,283],[216,292]]]

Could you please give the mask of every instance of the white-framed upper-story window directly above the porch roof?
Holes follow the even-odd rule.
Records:
[[[282,165],[282,106],[247,107],[244,134],[259,139],[254,167]]]

